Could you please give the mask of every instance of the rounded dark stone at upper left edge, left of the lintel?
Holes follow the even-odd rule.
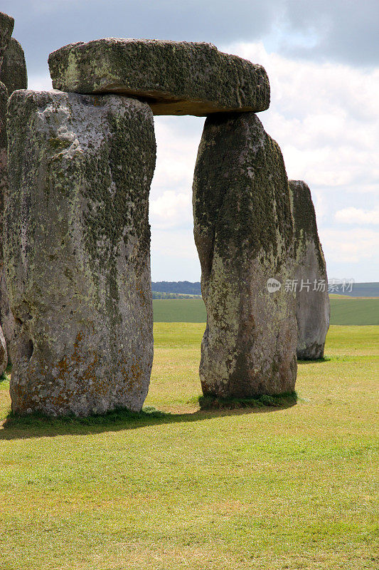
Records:
[[[21,48],[21,44],[15,38],[11,38],[4,53],[0,69],[0,81],[8,89],[9,96],[16,89],[26,89],[28,87],[28,74],[26,73],[23,48]]]

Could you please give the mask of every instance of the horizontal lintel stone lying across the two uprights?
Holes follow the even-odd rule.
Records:
[[[265,69],[211,43],[104,38],[63,46],[48,63],[55,89],[132,95],[154,115],[269,107]]]

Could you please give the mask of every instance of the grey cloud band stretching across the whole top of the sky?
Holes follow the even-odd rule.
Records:
[[[378,63],[378,0],[3,0],[1,10],[15,18],[29,73],[45,73],[65,43],[107,36],[225,45],[278,33],[286,55]]]

